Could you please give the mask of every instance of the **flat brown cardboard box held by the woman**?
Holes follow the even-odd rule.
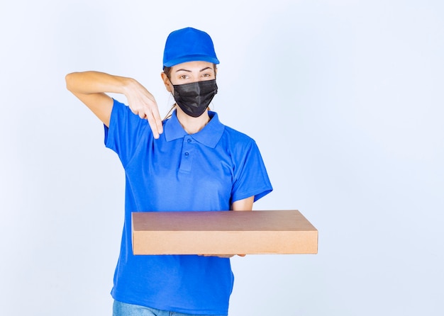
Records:
[[[299,210],[132,213],[134,254],[316,254]]]

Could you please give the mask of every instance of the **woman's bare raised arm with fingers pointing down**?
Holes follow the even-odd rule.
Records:
[[[132,78],[104,72],[73,72],[65,77],[67,89],[109,126],[113,100],[106,92],[124,94],[133,113],[148,120],[155,138],[162,134],[162,119],[154,96]]]

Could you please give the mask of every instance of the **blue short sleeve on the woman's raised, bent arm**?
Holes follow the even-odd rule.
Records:
[[[109,127],[105,128],[105,146],[112,149],[121,159],[123,167],[133,157],[143,137],[152,135],[147,120],[138,115],[123,103],[114,100]]]

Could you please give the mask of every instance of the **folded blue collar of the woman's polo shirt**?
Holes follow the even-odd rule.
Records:
[[[199,132],[196,132],[190,136],[197,142],[214,148],[221,139],[225,126],[221,123],[221,121],[219,121],[216,112],[209,111],[209,115],[209,123],[206,124]],[[179,120],[177,119],[176,111],[174,111],[171,118],[165,122],[164,133],[167,142],[177,140],[179,138],[183,138],[185,135],[188,135],[184,128],[182,128],[182,125],[180,125]]]

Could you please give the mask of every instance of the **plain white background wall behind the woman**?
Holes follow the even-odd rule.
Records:
[[[319,230],[316,255],[233,259],[230,315],[443,315],[443,2],[157,2],[1,2],[1,315],[111,315],[124,174],[65,74],[134,77],[165,115],[185,26],[215,42],[213,108],[261,149],[255,209]]]

